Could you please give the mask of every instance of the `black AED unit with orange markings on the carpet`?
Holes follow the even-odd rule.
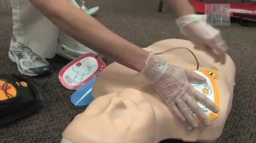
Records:
[[[0,126],[38,112],[43,100],[27,79],[0,74]]]

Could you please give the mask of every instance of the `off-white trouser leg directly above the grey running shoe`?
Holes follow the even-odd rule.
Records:
[[[55,56],[59,30],[28,0],[10,0],[17,41],[44,57]]]

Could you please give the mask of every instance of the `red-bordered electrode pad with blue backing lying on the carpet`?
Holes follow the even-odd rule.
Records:
[[[96,77],[107,67],[98,54],[84,54],[64,66],[59,73],[61,84],[70,90],[74,106],[88,106],[93,100],[91,94]]]

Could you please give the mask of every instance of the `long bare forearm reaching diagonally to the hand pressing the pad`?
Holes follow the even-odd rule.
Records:
[[[73,7],[67,1],[47,0],[47,3],[42,1],[31,0],[62,31],[90,49],[105,54],[131,69],[142,71],[148,52],[109,31],[89,14]]]

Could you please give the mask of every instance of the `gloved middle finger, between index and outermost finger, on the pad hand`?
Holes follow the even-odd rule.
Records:
[[[198,106],[194,97],[188,96],[188,98],[186,99],[186,103],[203,124],[210,125],[211,122],[209,118],[207,117],[206,113],[202,111],[201,107]]]

